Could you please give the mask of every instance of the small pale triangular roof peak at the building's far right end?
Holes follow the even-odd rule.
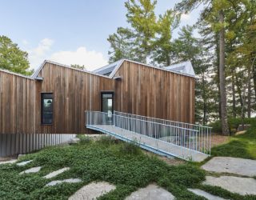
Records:
[[[182,74],[190,74],[191,76],[195,77],[194,69],[190,61],[181,62],[171,66],[165,66],[164,68],[170,71],[178,71]]]

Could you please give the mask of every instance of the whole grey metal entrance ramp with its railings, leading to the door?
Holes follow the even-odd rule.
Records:
[[[86,111],[86,128],[167,157],[202,162],[210,155],[211,128],[114,111]]]

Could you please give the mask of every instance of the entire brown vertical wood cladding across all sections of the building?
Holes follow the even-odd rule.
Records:
[[[114,91],[114,110],[194,122],[194,78],[123,62],[114,80],[46,62],[38,77],[0,71],[0,134],[84,134],[85,110],[101,110],[101,91]],[[54,122],[41,125],[41,94],[54,94]]]

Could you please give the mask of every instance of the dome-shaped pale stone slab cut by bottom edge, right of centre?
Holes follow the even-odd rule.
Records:
[[[154,184],[150,184],[149,186],[146,186],[145,188],[139,189],[132,194],[130,194],[129,197],[126,198],[126,200],[173,200],[174,195],[170,194],[169,191],[162,189],[159,186],[156,186]]]

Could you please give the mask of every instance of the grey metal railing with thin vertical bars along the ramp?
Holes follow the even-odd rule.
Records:
[[[211,132],[209,129],[197,130],[161,122],[151,122],[142,118],[133,118],[133,116],[122,116],[119,115],[118,112],[114,112],[110,117],[108,114],[100,111],[86,111],[86,126],[96,125],[115,126],[173,145],[196,150],[204,154],[210,154]]]

